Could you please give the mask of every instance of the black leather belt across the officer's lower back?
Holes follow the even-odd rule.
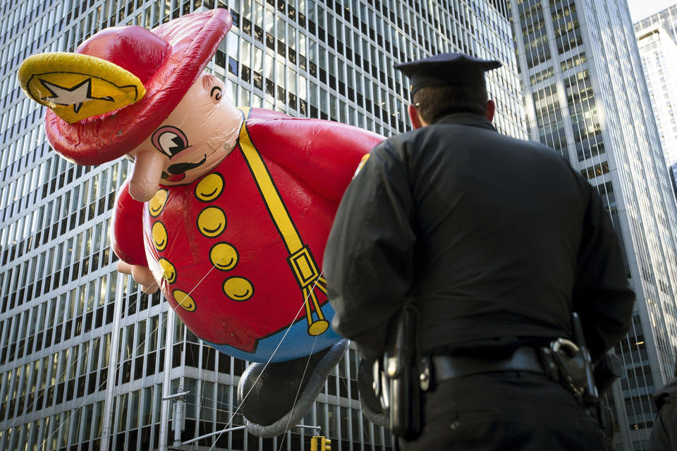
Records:
[[[538,350],[533,347],[518,347],[505,359],[486,359],[482,357],[436,355],[432,357],[434,381],[461,378],[480,373],[504,371],[527,371],[545,374],[539,361]]]

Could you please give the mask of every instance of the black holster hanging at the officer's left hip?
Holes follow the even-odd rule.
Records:
[[[421,432],[418,368],[419,313],[408,304],[393,323],[383,359],[374,366],[374,389],[393,435],[413,440]]]

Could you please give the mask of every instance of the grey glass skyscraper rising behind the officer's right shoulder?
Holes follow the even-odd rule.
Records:
[[[677,212],[628,6],[623,1],[511,0],[532,139],[554,147],[597,187],[621,237],[637,293],[633,325],[614,348],[616,440],[643,450],[650,395],[677,345]]]

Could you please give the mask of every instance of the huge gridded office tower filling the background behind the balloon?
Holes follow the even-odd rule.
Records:
[[[107,230],[126,161],[74,166],[49,149],[44,111],[20,91],[31,54],[73,51],[115,25],[155,27],[228,8],[233,28],[208,70],[238,106],[341,121],[391,135],[408,128],[407,82],[393,64],[440,51],[496,58],[489,75],[501,132],[525,137],[507,0],[27,0],[0,6],[0,449],[165,450],[185,396],[182,441],[243,424],[245,362],[204,345],[115,270]],[[391,449],[360,411],[350,350],[303,423],[341,450]],[[228,423],[228,421],[232,421]],[[229,450],[308,450],[316,431],[200,440]]]

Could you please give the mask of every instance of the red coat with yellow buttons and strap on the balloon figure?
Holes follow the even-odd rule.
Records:
[[[245,113],[236,148],[202,178],[161,186],[143,206],[123,185],[114,251],[149,266],[182,321],[207,342],[265,359],[272,350],[257,350],[262,338],[305,321],[308,338],[326,335],[331,345],[319,277],[324,245],[355,168],[382,137],[263,109]]]

